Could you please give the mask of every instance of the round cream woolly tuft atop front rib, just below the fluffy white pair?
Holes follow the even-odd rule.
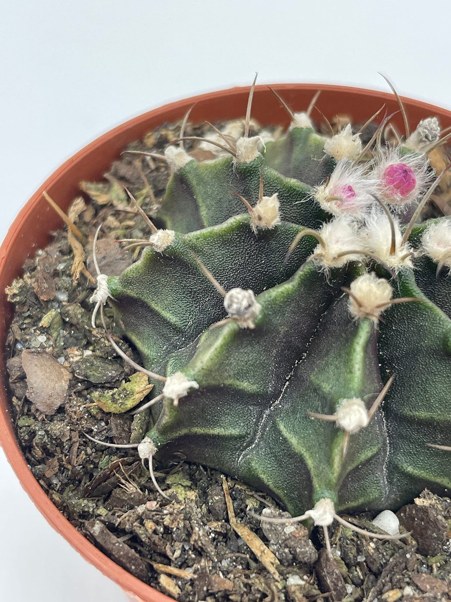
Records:
[[[370,318],[377,322],[385,307],[376,307],[379,303],[388,303],[393,295],[393,288],[385,278],[378,278],[374,272],[358,276],[351,282],[351,293],[358,299],[349,296],[349,312],[354,318]]]

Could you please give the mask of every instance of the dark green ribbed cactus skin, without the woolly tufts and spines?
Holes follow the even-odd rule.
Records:
[[[396,508],[425,486],[451,487],[449,455],[426,447],[451,441],[451,279],[416,259],[414,272],[403,269],[391,284],[397,296],[425,301],[391,306],[375,327],[351,318],[340,290],[360,268],[324,275],[305,264],[317,244],[310,236],[283,264],[299,231],[330,219],[310,186],[292,179],[327,178],[334,161],[322,146],[313,130],[295,128],[269,143],[265,158],[190,161],[174,173],[159,213],[174,243],[162,253],[147,247],[109,279],[115,318],[147,368],[182,371],[199,385],[178,406],[155,406],[148,436],[161,458],[182,453],[268,491],[293,514],[322,497],[337,510]],[[229,191],[255,205],[260,171],[265,195],[278,193],[282,221],[254,234]],[[414,246],[423,227],[411,235]],[[223,300],[190,250],[226,291],[256,293],[254,330],[234,322],[209,329],[226,316]],[[307,412],[333,414],[351,397],[369,407],[393,372],[382,407],[351,435],[343,459],[343,431]]]

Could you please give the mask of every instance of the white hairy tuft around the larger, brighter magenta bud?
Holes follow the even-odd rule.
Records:
[[[426,155],[400,151],[399,147],[385,147],[372,162],[376,196],[397,208],[417,200],[434,178],[428,172]]]

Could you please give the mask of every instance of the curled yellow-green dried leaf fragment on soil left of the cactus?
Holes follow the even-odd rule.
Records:
[[[93,393],[93,401],[97,403],[104,412],[112,414],[123,414],[134,408],[144,397],[152,391],[153,385],[149,384],[149,378],[143,372],[135,372],[130,376],[129,382],[124,382],[117,389],[110,391],[96,391]]]

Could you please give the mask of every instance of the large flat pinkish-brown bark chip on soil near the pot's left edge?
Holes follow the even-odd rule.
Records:
[[[24,349],[22,366],[26,374],[26,396],[44,414],[55,414],[67,400],[71,374],[46,352]]]

